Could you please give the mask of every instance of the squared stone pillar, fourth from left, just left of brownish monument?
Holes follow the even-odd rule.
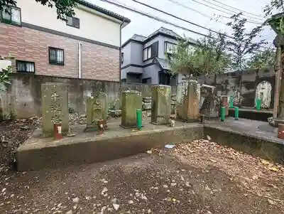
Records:
[[[170,120],[171,87],[154,85],[152,87],[151,122],[155,125],[168,124]]]

